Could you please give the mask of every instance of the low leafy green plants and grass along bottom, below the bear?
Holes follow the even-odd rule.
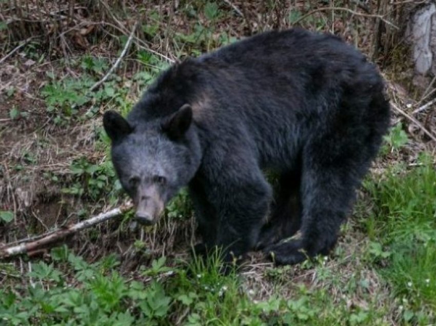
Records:
[[[8,325],[331,325],[385,324],[384,310],[349,309],[327,289],[299,284],[295,297],[253,300],[236,271],[220,273],[218,255],[206,262],[165,267],[154,261],[142,278],[127,279],[108,256],[87,263],[66,247],[53,263],[32,263],[27,287],[0,290],[0,318]],[[56,266],[56,267],[55,267]],[[9,271],[10,273],[12,271]],[[168,277],[166,281],[163,278]],[[352,280],[354,282],[354,280]],[[372,305],[369,302],[370,307]]]

